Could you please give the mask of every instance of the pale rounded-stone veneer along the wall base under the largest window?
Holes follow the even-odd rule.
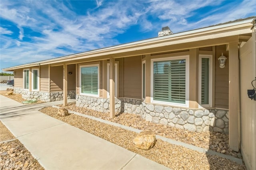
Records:
[[[108,113],[109,99],[76,95],[76,106]],[[222,109],[183,109],[147,104],[140,99],[118,98],[115,99],[115,111],[134,113],[146,121],[171,127],[228,134],[229,113]]]

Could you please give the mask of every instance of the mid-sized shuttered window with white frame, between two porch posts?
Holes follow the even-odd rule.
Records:
[[[99,97],[99,65],[80,66],[80,93]]]

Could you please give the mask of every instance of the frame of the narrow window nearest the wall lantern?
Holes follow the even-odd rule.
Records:
[[[201,104],[202,97],[202,58],[209,59],[209,104]],[[208,108],[212,107],[212,55],[199,55],[198,64],[198,108]]]

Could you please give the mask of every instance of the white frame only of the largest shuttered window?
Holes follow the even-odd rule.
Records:
[[[154,100],[154,61],[170,61],[176,59],[186,59],[186,85],[185,85],[185,103],[174,103],[167,101],[156,101]],[[165,58],[157,58],[151,59],[151,82],[150,82],[150,102],[162,105],[172,105],[178,107],[189,107],[189,55],[180,55],[176,57],[165,57]]]

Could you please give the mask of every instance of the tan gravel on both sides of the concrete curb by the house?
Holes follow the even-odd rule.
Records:
[[[96,111],[91,111],[88,109],[75,108],[74,104],[68,105],[67,108],[70,110],[72,110],[71,108],[76,109],[76,112],[80,112],[80,113],[82,113],[82,110],[84,110],[87,115],[95,116],[94,114],[96,114],[98,115],[96,117],[109,120],[108,114],[106,113],[101,114]],[[176,169],[193,169],[193,170],[194,169],[200,169],[200,170],[216,169],[217,170],[220,168],[223,170],[246,169],[245,166],[236,164],[230,160],[226,160],[218,156],[202,154],[194,150],[184,148],[182,146],[169,144],[168,142],[164,142],[160,139],[157,140],[156,145],[152,149],[141,150],[136,148],[132,142],[133,138],[136,136],[135,132],[131,132],[129,130],[125,130],[119,127],[114,127],[112,125],[107,125],[105,123],[100,123],[98,121],[94,121],[94,120],[81,117],[78,115],[74,115],[74,114],[70,114],[66,117],[61,117],[57,115],[58,109],[53,107],[46,107],[44,109],[41,109],[40,111],[42,113],[45,113],[46,115],[49,115],[51,117],[59,119],[60,121],[68,123],[74,127],[80,128],[91,134],[99,136],[100,138],[103,138],[114,144],[122,146],[123,148],[131,150],[132,152],[140,154],[150,160],[163,164],[164,166],[167,166],[174,170]],[[132,114],[118,115],[118,117],[116,117],[112,121],[116,123],[122,122],[121,124],[123,125],[126,125],[126,126],[129,125],[135,128],[141,127],[140,129],[142,130],[151,130],[158,134],[162,134],[162,136],[164,136],[163,134],[165,134],[166,137],[168,137],[167,135],[169,135],[168,134],[169,131],[165,131],[166,129],[168,129],[168,127],[164,127],[162,125],[156,125],[156,124],[151,125],[151,123],[148,123],[146,121],[145,121],[145,124],[142,124],[140,123],[140,121],[143,121],[143,120],[140,120],[139,117],[136,117],[136,115],[132,115]],[[156,128],[153,128],[153,127],[156,127]],[[184,131],[176,128],[173,128],[170,130],[174,131],[173,135],[180,136],[178,137],[179,139],[182,138],[182,135],[184,135],[185,139],[181,141],[188,140],[193,144],[200,141],[200,144],[204,146],[207,145],[207,144],[203,144],[204,143],[203,141],[206,138],[205,135],[200,135],[200,133],[198,134],[196,133],[197,135],[195,135],[194,132],[190,133],[190,132],[186,132],[186,130]],[[210,136],[210,133],[208,134],[208,138],[209,136]],[[219,135],[216,134],[216,136],[219,136]],[[218,140],[219,139],[216,139],[216,141]]]

